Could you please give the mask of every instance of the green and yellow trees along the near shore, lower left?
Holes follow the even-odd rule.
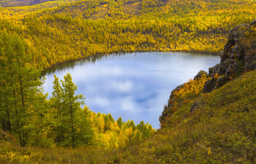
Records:
[[[140,143],[154,129],[143,121],[117,121],[111,114],[83,109],[83,95],[76,95],[70,73],[64,80],[54,77],[49,101],[39,80],[40,70],[30,64],[27,45],[17,34],[0,33],[0,128],[15,144],[39,147],[91,145],[115,149]]]

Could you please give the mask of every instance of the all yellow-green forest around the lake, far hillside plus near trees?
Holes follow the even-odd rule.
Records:
[[[255,19],[254,9],[251,0],[59,0],[0,8],[1,126],[22,146],[139,142],[153,133],[151,125],[81,109],[83,96],[74,95],[70,74],[63,81],[55,77],[48,101],[41,71],[118,51],[217,53],[231,27]]]

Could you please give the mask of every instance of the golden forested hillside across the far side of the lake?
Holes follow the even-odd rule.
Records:
[[[36,67],[117,51],[219,53],[228,31],[255,19],[253,0],[65,0],[0,8]]]

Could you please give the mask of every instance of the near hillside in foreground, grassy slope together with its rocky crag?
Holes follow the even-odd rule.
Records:
[[[194,79],[174,89],[160,118],[161,128],[143,142],[117,149],[91,146],[76,149],[20,147],[13,137],[1,131],[1,161],[7,164],[39,161],[44,164],[255,163],[255,26],[252,23],[231,30],[221,62],[213,67],[215,71],[209,71],[220,75],[201,71]],[[250,56],[254,58],[247,60]],[[232,61],[230,59],[243,64],[229,67],[222,75],[219,71],[223,67],[220,66],[225,66],[227,61]],[[230,77],[229,70],[240,72],[234,72],[232,78],[225,79],[222,86],[213,91],[202,92],[212,78],[214,84],[218,84],[215,82],[219,78]]]

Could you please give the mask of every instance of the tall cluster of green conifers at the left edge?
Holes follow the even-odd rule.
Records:
[[[31,143],[37,135],[32,126],[44,117],[45,98],[43,94],[43,81],[39,80],[40,70],[36,69],[26,51],[26,43],[17,34],[9,35],[5,30],[0,38],[0,64],[1,87],[3,98],[0,103],[1,112],[7,115],[8,129],[18,136],[21,146]],[[2,117],[1,117],[2,118]],[[2,121],[6,122],[6,121]]]

